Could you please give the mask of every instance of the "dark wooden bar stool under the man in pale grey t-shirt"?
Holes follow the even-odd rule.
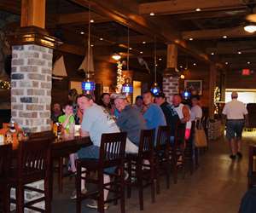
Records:
[[[98,200],[98,211],[104,212],[104,204],[120,199],[121,212],[125,213],[125,144],[126,133],[102,134],[99,158],[80,158],[76,160],[77,176],[77,213],[81,212],[81,203],[84,199]],[[109,174],[106,169],[116,167],[115,172]],[[97,178],[90,178],[90,172],[96,171]],[[103,175],[107,174],[113,177],[113,181],[103,183]],[[85,176],[83,176],[85,175]],[[81,193],[81,180],[86,183],[96,184],[96,191],[85,194]],[[113,187],[113,188],[111,188]],[[113,193],[113,197],[104,201],[104,189]]]

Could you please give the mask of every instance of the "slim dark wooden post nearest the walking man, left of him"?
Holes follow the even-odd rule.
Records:
[[[214,118],[214,89],[216,87],[217,67],[210,65],[210,81],[209,81],[209,118]]]

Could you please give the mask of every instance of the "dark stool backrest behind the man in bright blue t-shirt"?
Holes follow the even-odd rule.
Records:
[[[156,137],[156,150],[170,147],[171,141],[171,128],[170,126],[159,126]]]

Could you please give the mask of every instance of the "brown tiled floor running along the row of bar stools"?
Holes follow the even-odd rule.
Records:
[[[245,141],[255,141],[253,134],[247,134]],[[254,133],[254,135],[256,135]],[[150,203],[150,193],[145,190],[144,213],[236,213],[242,195],[247,190],[247,143],[243,147],[244,157],[231,161],[227,143],[223,140],[212,141],[210,148],[201,158],[200,167],[193,176],[179,178],[176,185],[167,190],[165,182],[156,203]],[[69,199],[73,191],[73,181],[64,184],[64,193],[55,192],[53,213],[75,212],[75,202]],[[83,206],[83,213],[96,212]],[[109,213],[119,212],[119,205],[109,208]],[[126,200],[126,212],[141,212],[138,209],[137,191],[133,190],[132,199]]]

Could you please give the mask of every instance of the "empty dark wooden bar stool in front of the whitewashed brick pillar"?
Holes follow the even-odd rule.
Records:
[[[51,140],[21,141],[18,147],[17,167],[11,170],[10,187],[16,189],[16,211],[23,213],[24,208],[39,212],[51,212]],[[28,187],[29,183],[44,180],[44,190]],[[44,197],[25,203],[25,190],[44,193]],[[33,206],[45,202],[45,210]]]

